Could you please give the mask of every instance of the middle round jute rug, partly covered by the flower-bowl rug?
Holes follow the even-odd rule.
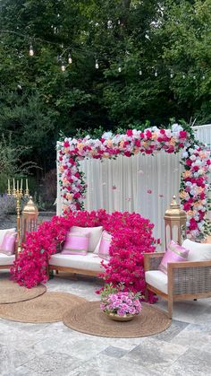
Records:
[[[0,318],[34,323],[61,321],[65,310],[84,302],[71,293],[45,293],[26,302],[0,304]]]

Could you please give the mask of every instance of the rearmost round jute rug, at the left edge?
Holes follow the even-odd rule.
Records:
[[[43,293],[46,293],[46,286],[43,284],[27,289],[9,279],[0,281],[0,304],[29,301]]]

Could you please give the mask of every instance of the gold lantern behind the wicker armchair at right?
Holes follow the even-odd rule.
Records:
[[[187,215],[173,196],[170,208],[165,212],[165,249],[171,240],[180,244],[186,238]]]

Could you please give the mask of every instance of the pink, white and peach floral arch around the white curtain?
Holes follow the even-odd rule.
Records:
[[[84,158],[116,158],[141,153],[155,155],[159,151],[179,153],[181,164],[181,206],[187,213],[188,236],[200,240],[205,236],[209,185],[207,174],[211,170],[210,151],[199,143],[189,127],[173,124],[169,129],[151,127],[143,132],[128,129],[125,134],[105,132],[100,138],[64,138],[57,143],[59,183],[62,193],[63,214],[83,209],[86,182],[80,171]]]

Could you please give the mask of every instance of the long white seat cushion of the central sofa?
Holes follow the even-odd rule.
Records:
[[[56,253],[52,255],[49,260],[49,265],[56,267],[73,267],[82,270],[91,270],[102,273],[105,269],[102,267],[101,258],[88,252],[86,256],[81,255],[62,255],[62,253]],[[106,261],[105,261],[106,262]]]

